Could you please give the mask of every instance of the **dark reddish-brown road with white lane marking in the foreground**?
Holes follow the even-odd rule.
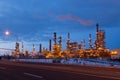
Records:
[[[120,80],[119,71],[102,67],[0,61],[0,80]]]

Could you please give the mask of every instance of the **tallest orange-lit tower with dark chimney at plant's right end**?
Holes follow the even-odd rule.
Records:
[[[105,46],[105,32],[103,30],[99,30],[99,25],[96,24],[96,35],[97,38],[95,40],[95,49],[98,57],[108,58],[110,57],[110,51]]]

